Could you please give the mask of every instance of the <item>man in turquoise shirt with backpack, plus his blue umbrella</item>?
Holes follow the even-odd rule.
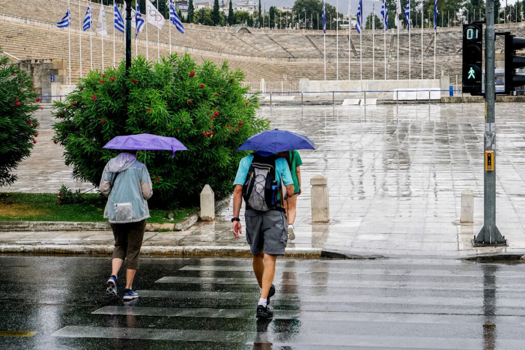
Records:
[[[282,201],[293,195],[293,180],[285,158],[276,153],[313,149],[308,137],[289,131],[269,130],[250,137],[238,150],[256,151],[239,163],[234,181],[232,230],[236,239],[242,233],[239,219],[243,198],[246,203],[246,240],[253,255],[253,269],[260,287],[256,316],[270,319],[270,298],[278,256],[285,254],[288,220]]]

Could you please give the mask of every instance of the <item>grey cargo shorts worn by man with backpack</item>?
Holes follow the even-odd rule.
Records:
[[[246,240],[250,253],[257,255],[261,249],[266,254],[284,255],[288,240],[285,213],[278,210],[258,211],[246,209]]]

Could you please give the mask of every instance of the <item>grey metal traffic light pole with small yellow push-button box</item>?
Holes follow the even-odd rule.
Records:
[[[484,136],[484,225],[474,246],[506,246],[496,227],[496,123],[494,0],[486,2],[485,27],[485,136]]]

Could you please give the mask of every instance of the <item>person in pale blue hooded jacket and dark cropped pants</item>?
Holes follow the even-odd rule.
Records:
[[[115,238],[106,294],[117,296],[118,273],[127,259],[124,300],[139,297],[133,290],[133,279],[139,269],[146,219],[150,217],[148,199],[153,195],[148,168],[137,160],[137,153],[122,151],[112,158],[100,181],[100,193],[108,197],[104,218],[109,220]]]

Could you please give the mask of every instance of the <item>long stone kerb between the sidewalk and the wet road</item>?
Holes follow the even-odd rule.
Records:
[[[0,245],[0,253],[26,254],[102,254],[110,255],[113,246],[107,245]],[[235,246],[142,246],[141,255],[251,257],[249,247]],[[321,258],[321,249],[287,248],[286,257]]]

